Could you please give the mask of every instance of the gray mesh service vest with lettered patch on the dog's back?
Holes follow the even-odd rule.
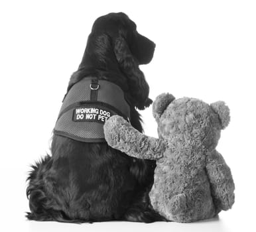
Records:
[[[86,77],[64,97],[54,134],[86,143],[103,143],[103,125],[112,115],[130,119],[130,107],[121,87]]]

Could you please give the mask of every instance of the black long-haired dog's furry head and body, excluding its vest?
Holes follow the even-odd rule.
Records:
[[[155,44],[139,34],[124,13],[99,17],[92,27],[78,71],[69,89],[94,76],[121,87],[130,106],[131,124],[142,131],[140,115],[152,103],[139,64],[153,58]],[[27,196],[38,221],[164,221],[149,203],[155,162],[137,160],[107,145],[54,135],[52,156],[32,166]]]

